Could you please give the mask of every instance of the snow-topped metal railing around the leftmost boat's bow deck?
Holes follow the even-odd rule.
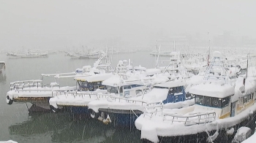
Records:
[[[10,83],[10,90],[18,90],[18,91],[21,91],[24,88],[53,88],[53,87],[60,88],[59,84],[57,84],[56,82],[51,82],[50,84],[43,85],[42,80],[23,80],[23,81],[16,81],[16,82]],[[31,90],[28,90],[28,91],[31,91]],[[42,90],[42,91],[45,91],[45,90]]]

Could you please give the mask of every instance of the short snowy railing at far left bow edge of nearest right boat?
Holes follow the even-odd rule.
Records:
[[[161,112],[161,115],[162,115],[163,109],[164,109],[164,104],[162,103],[162,101],[146,104],[144,107],[143,117],[147,115],[148,117],[151,118],[153,115],[157,115],[157,112]]]

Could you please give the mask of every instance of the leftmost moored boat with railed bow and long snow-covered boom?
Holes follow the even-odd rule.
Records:
[[[60,74],[41,74],[41,80],[23,80],[10,83],[10,91],[7,92],[7,104],[13,102],[30,102],[34,107],[50,109],[49,99],[61,93],[78,90],[78,85],[61,86],[59,80],[75,77],[88,77],[94,74],[105,73],[110,69],[109,63],[102,63],[102,57],[94,62],[94,66],[83,66],[83,69],[76,69],[69,73]],[[45,83],[45,77],[50,77],[50,83]]]

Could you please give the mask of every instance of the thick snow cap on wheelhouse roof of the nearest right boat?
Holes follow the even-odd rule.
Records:
[[[235,94],[233,86],[229,84],[221,84],[219,82],[203,82],[189,89],[189,93],[200,96],[211,96],[217,98],[225,98]]]

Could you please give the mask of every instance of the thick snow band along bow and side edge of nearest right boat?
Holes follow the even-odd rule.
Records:
[[[176,109],[176,112],[178,112],[178,109]],[[159,142],[158,136],[184,136],[197,134],[206,130],[214,131],[217,130],[217,128],[230,128],[233,125],[240,123],[241,120],[246,120],[252,112],[256,112],[256,104],[235,117],[218,119],[206,124],[202,123],[187,126],[184,125],[184,122],[171,123],[169,120],[163,121],[162,116],[154,116],[150,119],[147,116],[144,117],[144,115],[140,115],[135,121],[135,126],[141,131],[141,139],[148,139],[151,142]]]

